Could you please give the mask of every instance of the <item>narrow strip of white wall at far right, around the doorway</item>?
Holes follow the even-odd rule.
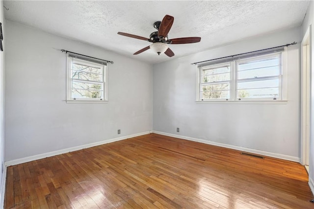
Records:
[[[312,189],[312,192],[314,193],[314,2],[310,1],[307,13],[305,15],[303,24],[302,24],[302,35],[301,38],[304,37],[307,29],[309,26],[312,25],[312,44],[311,44],[311,52],[312,52],[312,58],[311,58],[311,63],[312,63],[312,78],[311,78],[311,83],[312,83],[312,93],[311,93],[311,111],[312,111],[312,118],[311,118],[311,136],[310,136],[310,163],[309,163],[309,184]]]

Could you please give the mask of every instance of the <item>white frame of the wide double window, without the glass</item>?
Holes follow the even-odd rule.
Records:
[[[273,57],[277,55],[280,59],[280,73],[279,76],[279,97],[274,100],[274,98],[237,98],[237,75],[238,75],[238,64],[247,61],[254,61],[262,58]],[[240,57],[233,60],[226,60],[217,62],[209,62],[197,66],[197,88],[196,88],[196,103],[197,104],[287,104],[287,51],[286,48],[282,52],[269,52],[262,55],[251,55],[249,57]],[[230,99],[201,99],[201,76],[203,69],[210,69],[217,66],[223,66],[230,63],[231,66],[231,81],[230,81]],[[274,76],[276,77],[276,76]],[[253,80],[262,80],[261,78],[250,78]]]

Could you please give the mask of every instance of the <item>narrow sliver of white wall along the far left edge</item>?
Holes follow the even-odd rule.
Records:
[[[4,23],[4,12],[3,12],[3,1],[0,1],[0,23],[2,23],[2,32],[5,33],[5,23]],[[2,178],[5,178],[1,170],[1,164],[4,162],[4,53],[6,51],[6,46],[4,43],[6,42],[6,34],[3,35],[3,51],[0,51],[0,181]],[[2,194],[2,183],[0,182],[0,194]],[[2,196],[1,196],[2,197]],[[3,202],[0,198],[0,202]],[[0,204],[1,205],[1,204]]]

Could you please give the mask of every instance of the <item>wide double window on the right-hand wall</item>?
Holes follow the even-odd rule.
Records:
[[[198,101],[284,100],[282,56],[268,52],[200,65]]]

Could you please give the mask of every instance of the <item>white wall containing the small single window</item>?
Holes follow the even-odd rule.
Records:
[[[151,65],[11,21],[6,41],[5,161],[152,130]],[[114,61],[108,104],[66,104],[60,49]]]

